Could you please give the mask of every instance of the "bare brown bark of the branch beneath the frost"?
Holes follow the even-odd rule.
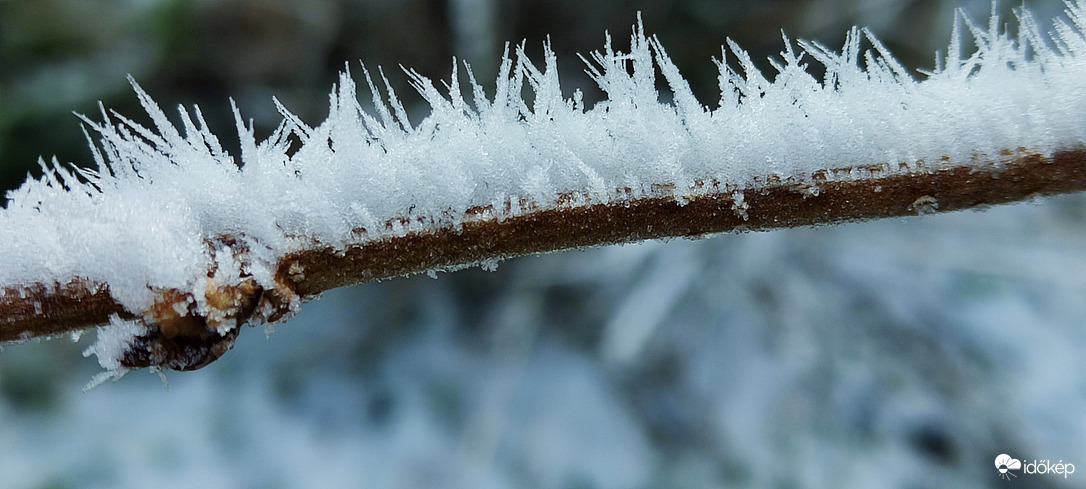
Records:
[[[867,176],[860,178],[849,176],[848,168],[829,171],[809,181],[767,179],[749,189],[706,185],[698,197],[683,202],[661,193],[621,203],[536,209],[504,220],[484,217],[485,210],[478,210],[459,228],[379,238],[345,250],[315,247],[291,253],[279,262],[279,286],[255,292],[261,294],[255,300],[282,311],[294,294],[312,298],[336,287],[525,254],[957,211],[1086,189],[1086,148],[1051,158],[1021,151],[1007,151],[1005,156],[1000,163],[935,171],[923,164],[909,172],[861,168]],[[125,311],[113,301],[106,284],[79,277],[61,285],[8,285],[0,290],[0,341],[79,330],[108,323],[114,313],[152,323],[156,317],[153,311]],[[254,300],[233,289],[230,294],[247,306]],[[162,291],[163,298],[175,296],[176,291]],[[265,312],[260,317],[275,321],[277,314]]]

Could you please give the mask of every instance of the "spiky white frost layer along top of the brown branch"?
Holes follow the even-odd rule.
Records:
[[[920,80],[866,30],[854,29],[839,53],[803,41],[797,49],[785,38],[773,82],[729,42],[730,59],[718,61],[721,100],[711,110],[641,28],[629,53],[613,50],[608,38],[591,57],[589,71],[607,95],[593,108],[579,91],[566,98],[550,49],[542,66],[519,49],[506,55],[491,97],[470,70],[462,79],[455,63],[443,91],[411,72],[432,106],[417,125],[388,84],[382,96],[365,72],[376,110],[363,110],[344,73],[328,120],[316,127],[280,106],[282,125],[257,142],[236,110],[240,158],[223,151],[199,110],[181,109],[184,127],[176,128],[136,87],[153,129],[103,109],[103,122],[87,121],[99,138],[99,171],[80,173],[88,183],[54,162],[40,180],[9,193],[0,284],[84,277],[109,284],[139,311],[150,305],[151,287],[202,298],[213,263],[204,240],[227,234],[251,248],[250,269],[235,273],[270,286],[278,256],[301,242],[344,246],[455,226],[471,208],[492,206],[502,218],[522,212],[521,201],[550,205],[566,193],[613,202],[670,184],[681,200],[698,191],[696,181],[747,187],[755,178],[803,180],[850,165],[962,165],[998,160],[1005,149],[1047,154],[1081,146],[1086,8],[1068,5],[1070,22],[1057,21],[1050,40],[1024,10],[1016,37],[995,17],[986,29],[956,23],[947,54]],[[960,35],[962,24],[970,36]],[[962,50],[969,37],[975,46]],[[873,49],[861,49],[861,38]],[[810,76],[804,60],[825,65],[825,78]],[[673,102],[660,101],[657,72]],[[300,146],[291,148],[291,135]],[[367,234],[352,234],[359,228]]]

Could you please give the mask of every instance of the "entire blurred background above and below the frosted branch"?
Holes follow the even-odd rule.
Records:
[[[998,5],[1013,20],[1009,2]],[[1059,1],[1028,1],[1046,23]],[[485,84],[503,43],[577,53],[642,12],[706,104],[730,37],[768,70],[790,37],[871,27],[912,68],[955,8],[987,0],[0,0],[0,186],[42,155],[87,164],[72,112],[144,121],[125,76],[199,104],[236,148],[228,98],[279,122],[326,115],[337,73],[399,65]],[[1011,22],[1013,28],[1013,22]],[[1047,26],[1048,24],[1046,24]],[[967,46],[968,46],[967,41]],[[816,68],[817,70],[817,68]],[[768,74],[768,73],[767,73]],[[368,93],[362,93],[368,99]],[[258,196],[239,196],[258,198]],[[647,242],[334,290],[242,333],[194,373],[88,393],[92,341],[0,352],[11,488],[1005,487],[1000,453],[1086,477],[1086,199],[923,218]],[[0,252],[2,253],[2,252]]]

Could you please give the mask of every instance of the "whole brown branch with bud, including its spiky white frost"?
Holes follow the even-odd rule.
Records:
[[[83,118],[97,171],[54,161],[9,193],[0,341],[109,325],[89,352],[112,377],[191,369],[242,324],[349,284],[1086,189],[1086,7],[1051,36],[1016,14],[1013,37],[961,16],[920,79],[862,29],[839,52],[785,38],[772,80],[729,41],[715,109],[640,22],[629,52],[608,37],[585,60],[607,96],[592,108],[548,46],[542,65],[507,50],[490,96],[467,65],[440,88],[407,72],[431,106],[417,124],[363,67],[370,111],[348,72],[317,126],[276,102],[283,122],[257,141],[235,106],[240,155],[199,110],[177,127],[132,83],[151,127],[103,108]]]

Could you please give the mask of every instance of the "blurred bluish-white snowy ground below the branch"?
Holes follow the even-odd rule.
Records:
[[[168,389],[80,393],[91,338],[9,346],[0,480],[1005,487],[1010,453],[1074,487],[1084,249],[1071,196],[521,259],[329,292]]]

